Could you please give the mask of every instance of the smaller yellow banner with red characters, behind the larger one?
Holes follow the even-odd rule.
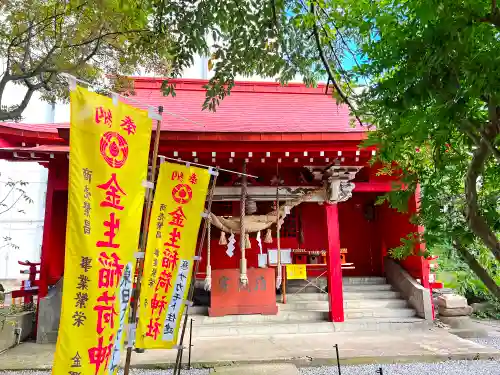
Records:
[[[177,344],[209,182],[206,169],[160,166],[144,261],[138,348]]]

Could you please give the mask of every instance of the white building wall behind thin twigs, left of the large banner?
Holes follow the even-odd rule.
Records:
[[[6,186],[9,181],[24,181],[19,186],[33,200],[19,198],[21,193]],[[0,160],[0,280],[25,278],[26,269],[18,261],[40,261],[47,192],[47,169],[33,162]],[[17,202],[16,202],[17,201]],[[5,205],[5,206],[4,206]],[[5,238],[10,238],[6,241]],[[11,242],[18,246],[7,246]]]

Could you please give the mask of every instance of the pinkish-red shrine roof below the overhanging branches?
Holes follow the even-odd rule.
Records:
[[[204,80],[177,79],[176,96],[165,97],[161,78],[136,77],[134,99],[164,107],[162,130],[202,133],[353,133],[364,132],[349,123],[349,110],[337,105],[325,86],[307,88],[303,84],[280,86],[274,82],[237,82],[231,95],[221,101],[217,111],[202,110]],[[57,134],[68,124],[0,123],[0,134],[15,129],[25,132]],[[3,128],[3,129],[1,129]],[[12,133],[11,133],[12,134]]]

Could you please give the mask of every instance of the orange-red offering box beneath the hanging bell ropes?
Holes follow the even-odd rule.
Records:
[[[274,268],[249,268],[247,276],[242,288],[239,269],[212,271],[209,316],[278,313]]]

